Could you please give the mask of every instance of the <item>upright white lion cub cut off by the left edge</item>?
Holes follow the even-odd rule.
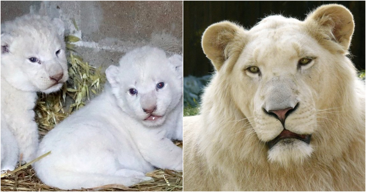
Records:
[[[51,93],[68,79],[60,19],[24,15],[1,27],[1,170],[35,158],[37,92]]]

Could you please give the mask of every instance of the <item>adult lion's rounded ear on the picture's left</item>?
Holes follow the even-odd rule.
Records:
[[[229,45],[242,33],[244,33],[242,27],[228,21],[212,24],[203,33],[203,52],[212,61],[217,71],[229,57],[231,51]]]

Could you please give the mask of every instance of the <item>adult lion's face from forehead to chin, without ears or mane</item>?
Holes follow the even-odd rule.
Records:
[[[268,144],[270,161],[302,161],[313,151],[318,79],[312,76],[319,75],[314,64],[324,50],[295,25],[299,21],[272,28],[272,19],[284,18],[266,18],[250,31],[230,75],[231,91],[258,138]]]

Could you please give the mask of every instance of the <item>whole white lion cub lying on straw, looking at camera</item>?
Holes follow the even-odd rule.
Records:
[[[182,170],[182,56],[135,49],[105,71],[105,91],[52,129],[34,163],[38,177],[61,189],[150,180],[155,167]]]

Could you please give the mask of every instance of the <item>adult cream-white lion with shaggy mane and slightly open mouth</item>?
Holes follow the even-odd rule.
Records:
[[[184,191],[364,191],[365,88],[347,58],[354,30],[331,4],[305,21],[215,23],[216,73],[184,117]]]

